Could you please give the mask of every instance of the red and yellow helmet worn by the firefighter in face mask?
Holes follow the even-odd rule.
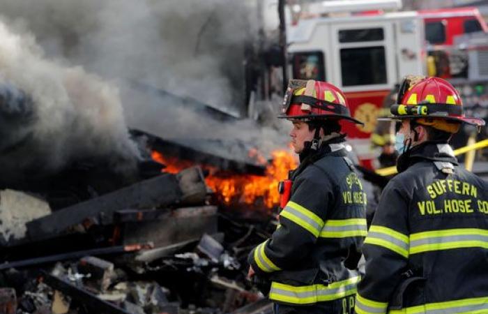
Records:
[[[419,124],[456,133],[464,122],[484,126],[480,118],[466,117],[461,97],[452,85],[439,77],[406,78],[398,92],[397,104],[390,107],[392,119],[418,119]]]

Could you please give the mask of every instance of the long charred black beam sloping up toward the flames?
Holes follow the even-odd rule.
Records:
[[[181,197],[176,176],[162,174],[33,220],[27,223],[27,234],[31,241],[49,239],[68,227],[83,223],[86,218],[102,216],[111,219],[114,212],[122,209],[165,207],[178,202]]]

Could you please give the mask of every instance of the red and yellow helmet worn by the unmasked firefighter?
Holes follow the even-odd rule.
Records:
[[[351,117],[346,97],[328,82],[290,80],[284,94],[281,119],[345,119],[363,124]]]

